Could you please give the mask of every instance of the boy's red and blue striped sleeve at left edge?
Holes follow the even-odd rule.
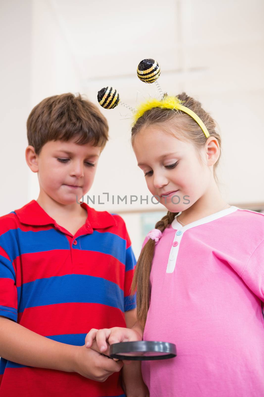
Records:
[[[0,316],[17,321],[15,268],[8,255],[7,236],[0,236]]]

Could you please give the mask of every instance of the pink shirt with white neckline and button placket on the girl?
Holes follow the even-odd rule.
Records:
[[[143,339],[177,347],[175,358],[142,361],[150,397],[264,396],[264,214],[231,206],[174,220],[150,282]]]

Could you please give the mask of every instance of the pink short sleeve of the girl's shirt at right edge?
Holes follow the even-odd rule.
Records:
[[[264,302],[264,240],[251,254],[241,278],[249,289]]]

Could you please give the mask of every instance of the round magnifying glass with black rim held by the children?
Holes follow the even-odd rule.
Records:
[[[177,356],[176,345],[168,342],[121,342],[110,345],[109,356],[118,360],[165,360]]]

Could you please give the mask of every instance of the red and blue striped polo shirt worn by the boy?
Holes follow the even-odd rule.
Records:
[[[0,218],[0,316],[82,346],[91,328],[125,327],[135,256],[118,215],[87,204],[73,236],[36,202]],[[0,396],[125,396],[120,374],[101,383],[74,372],[0,359]]]

